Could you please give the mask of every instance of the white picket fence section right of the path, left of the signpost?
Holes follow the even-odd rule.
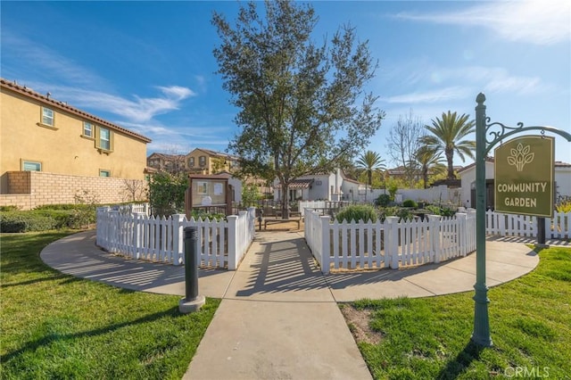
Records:
[[[359,268],[402,268],[440,262],[476,251],[476,214],[399,222],[334,221],[305,210],[305,240],[321,271]]]

